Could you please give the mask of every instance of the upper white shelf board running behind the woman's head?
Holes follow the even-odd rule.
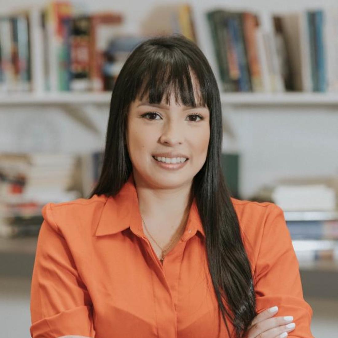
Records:
[[[60,92],[60,93],[8,93],[0,94],[1,105],[41,104],[110,104],[112,93],[107,92]],[[337,93],[221,93],[223,105],[338,105]]]

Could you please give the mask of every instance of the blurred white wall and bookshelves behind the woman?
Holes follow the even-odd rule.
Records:
[[[232,195],[283,209],[312,333],[337,337],[338,4],[329,0],[0,3],[3,337],[30,336],[41,208],[86,198],[95,184],[128,53],[176,32],[217,78]]]

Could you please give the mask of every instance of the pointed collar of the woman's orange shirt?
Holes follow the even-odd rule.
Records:
[[[107,197],[101,218],[96,228],[95,236],[116,234],[128,227],[130,227],[130,230],[135,235],[140,237],[144,235],[139,201],[132,173],[115,197]],[[199,231],[205,238],[202,222],[197,209],[196,199],[194,198],[182,240],[187,241],[189,238],[194,236],[197,231]]]

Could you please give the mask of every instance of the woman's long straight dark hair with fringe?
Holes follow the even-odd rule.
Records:
[[[198,104],[210,111],[210,141],[206,162],[193,178],[192,196],[206,234],[208,266],[219,310],[230,336],[225,315],[236,337],[242,337],[257,315],[250,262],[239,221],[221,169],[222,113],[214,73],[198,46],[181,34],[149,38],[132,50],[117,79],[110,102],[102,170],[90,194],[115,196],[132,172],[125,144],[128,108],[138,95],[148,93],[150,103],[161,103],[175,93],[182,104],[195,107],[190,70],[200,90]],[[227,311],[223,301],[230,311]]]

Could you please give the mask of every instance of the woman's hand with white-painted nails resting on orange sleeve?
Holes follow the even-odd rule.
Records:
[[[278,309],[274,312],[268,310],[262,311],[252,320],[244,338],[285,338],[288,332],[294,330],[295,326],[286,327],[292,322],[292,316],[288,316],[292,317],[291,320],[285,320],[284,316],[271,318],[278,312]]]

